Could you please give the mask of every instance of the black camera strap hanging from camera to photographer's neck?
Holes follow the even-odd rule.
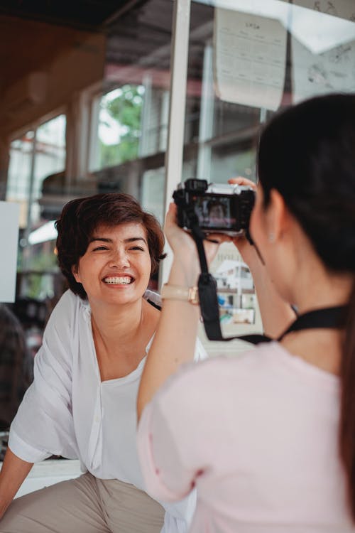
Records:
[[[203,241],[206,235],[201,230],[197,215],[193,206],[185,204],[185,212],[190,220],[192,237],[197,246],[197,252],[200,259],[201,274],[198,279],[198,291],[200,298],[200,309],[204,330],[209,340],[244,340],[248,343],[259,344],[281,340],[285,335],[292,331],[299,331],[311,328],[343,328],[346,323],[346,306],[336,306],[309,311],[301,316],[284,331],[278,339],[270,338],[266,335],[237,335],[235,337],[224,338],[222,335],[221,325],[219,322],[219,304],[217,299],[217,282],[209,274],[206,254],[204,253]]]

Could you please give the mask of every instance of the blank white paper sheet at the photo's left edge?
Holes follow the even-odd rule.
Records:
[[[0,302],[15,301],[20,206],[0,202]]]

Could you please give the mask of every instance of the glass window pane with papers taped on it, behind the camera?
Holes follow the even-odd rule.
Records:
[[[184,179],[256,181],[258,133],[273,113],[355,90],[354,0],[197,0],[190,15]],[[231,265],[235,283],[226,281]],[[260,330],[251,276],[236,249],[224,245],[212,271],[224,333],[252,322]]]

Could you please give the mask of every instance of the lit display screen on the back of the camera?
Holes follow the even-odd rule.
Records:
[[[236,225],[235,217],[231,217],[229,198],[220,196],[197,196],[195,198],[195,212],[200,227],[230,230]]]

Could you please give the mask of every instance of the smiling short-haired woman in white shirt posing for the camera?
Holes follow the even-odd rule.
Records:
[[[50,317],[35,380],[11,426],[0,517],[32,463],[80,458],[87,473],[14,500],[0,529],[183,533],[195,493],[175,504],[153,500],[136,453],[136,396],[160,318],[160,297],[147,286],[164,257],[163,232],[121,193],[72,200],[56,227],[70,290]]]

